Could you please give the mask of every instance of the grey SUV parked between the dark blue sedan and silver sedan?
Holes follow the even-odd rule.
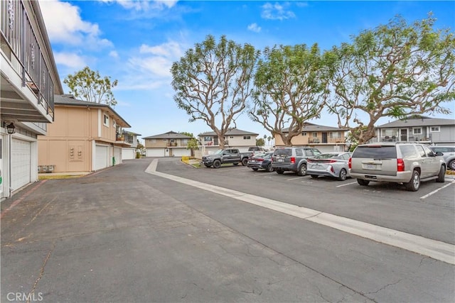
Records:
[[[296,172],[299,176],[306,175],[306,159],[314,158],[321,152],[317,148],[285,147],[277,148],[272,155],[272,167],[277,174],[285,171]]]

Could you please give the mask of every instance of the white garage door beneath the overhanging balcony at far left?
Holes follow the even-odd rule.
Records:
[[[31,182],[31,143],[11,140],[11,188],[16,190]]]

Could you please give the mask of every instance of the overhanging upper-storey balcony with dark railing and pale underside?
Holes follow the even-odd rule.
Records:
[[[23,1],[0,1],[1,119],[49,123],[55,85],[45,59],[53,58],[45,57],[28,16]]]

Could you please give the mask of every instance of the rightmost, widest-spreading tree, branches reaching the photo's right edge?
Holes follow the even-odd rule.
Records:
[[[397,16],[387,25],[361,32],[352,43],[331,50],[331,113],[358,143],[376,136],[382,117],[450,114],[443,103],[455,99],[455,39],[427,19],[408,24]]]

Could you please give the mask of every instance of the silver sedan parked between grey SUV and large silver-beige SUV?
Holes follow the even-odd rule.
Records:
[[[346,152],[321,153],[306,160],[306,173],[312,178],[322,175],[344,181],[350,176],[348,162],[351,155]]]

